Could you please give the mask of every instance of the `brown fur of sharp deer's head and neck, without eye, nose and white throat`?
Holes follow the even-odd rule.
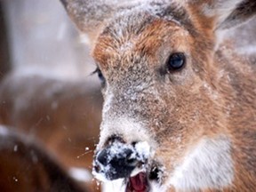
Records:
[[[225,136],[231,143],[235,179],[227,188],[198,191],[255,191],[255,70],[234,52],[231,43],[218,44],[220,28],[245,20],[237,11],[243,1],[236,1],[234,7],[229,2],[225,12],[221,4],[228,1],[186,2],[172,4],[173,15],[166,11],[168,6],[159,14],[142,7],[127,12],[116,8],[115,17],[104,23],[92,56],[106,79],[105,99],[109,92],[114,96],[103,112],[98,149],[114,133],[127,144],[140,141],[134,139],[135,133],[131,139],[118,126],[109,128],[117,117],[143,122],[149,132],[147,141],[157,143],[152,147],[156,150],[153,160],[164,166],[162,184],[166,184],[170,172],[201,140]],[[250,4],[255,6],[253,1]],[[175,10],[186,13],[175,17]],[[236,18],[228,17],[236,12]],[[173,52],[184,52],[187,63],[182,70],[169,73],[165,65]],[[146,85],[139,89],[140,84]]]

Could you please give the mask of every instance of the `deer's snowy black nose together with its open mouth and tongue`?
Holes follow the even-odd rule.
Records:
[[[93,175],[98,180],[124,179],[125,192],[149,192],[152,183],[159,183],[162,167],[155,161],[149,162],[148,143],[127,145],[113,142],[95,156]]]

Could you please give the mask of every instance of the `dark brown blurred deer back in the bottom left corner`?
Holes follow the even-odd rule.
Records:
[[[0,124],[0,190],[89,192],[35,138]]]

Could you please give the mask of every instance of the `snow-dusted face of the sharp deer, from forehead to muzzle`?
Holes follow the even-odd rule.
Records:
[[[95,173],[108,180],[137,175],[145,184],[144,172],[163,184],[199,138],[220,126],[213,40],[148,12],[121,20],[103,30],[93,52],[105,98]]]

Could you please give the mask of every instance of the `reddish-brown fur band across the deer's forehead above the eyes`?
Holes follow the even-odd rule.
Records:
[[[129,36],[116,36],[112,31],[102,33],[92,52],[102,70],[115,68],[120,65],[121,60],[122,65],[132,65],[132,61],[143,57],[150,60],[149,63],[155,64],[159,63],[160,57],[164,65],[171,53],[189,52],[188,44],[192,44],[193,40],[188,30],[173,21],[152,19],[147,14],[145,17],[148,20],[147,25],[140,31],[129,33]],[[127,25],[129,28],[129,24]]]

